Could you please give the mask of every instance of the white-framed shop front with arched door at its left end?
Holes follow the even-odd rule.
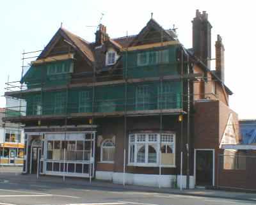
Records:
[[[83,131],[82,131],[83,130]],[[95,131],[26,132],[23,172],[55,176],[94,176]],[[48,132],[47,132],[48,131]]]

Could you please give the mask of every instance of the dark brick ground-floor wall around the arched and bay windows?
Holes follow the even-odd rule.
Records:
[[[186,119],[185,119],[186,120]],[[96,121],[99,127],[97,128],[97,136],[102,136],[102,139],[108,139],[115,136],[115,163],[97,163],[97,171],[114,171],[123,172],[124,166],[124,148],[126,148],[126,160],[128,159],[128,139],[129,132],[138,130],[151,130],[159,132],[160,118],[159,116],[140,116],[127,118],[127,139],[124,139],[124,118],[102,118]],[[163,131],[173,131],[176,133],[176,168],[163,168],[162,174],[175,174],[179,172],[180,166],[180,123],[178,116],[163,116]],[[184,143],[186,140],[186,123],[184,123]],[[97,146],[96,162],[100,162],[100,147]],[[127,163],[127,162],[126,162]],[[184,166],[184,171],[186,166]],[[127,172],[140,174],[159,174],[158,167],[127,167]]]

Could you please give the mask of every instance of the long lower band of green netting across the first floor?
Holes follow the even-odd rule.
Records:
[[[178,109],[181,107],[181,82],[148,82],[118,86],[68,89],[25,95],[27,116],[79,112],[115,112],[132,110]],[[93,106],[94,105],[94,106]]]

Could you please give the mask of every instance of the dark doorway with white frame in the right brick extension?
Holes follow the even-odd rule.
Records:
[[[195,149],[195,185],[214,186],[214,149]]]

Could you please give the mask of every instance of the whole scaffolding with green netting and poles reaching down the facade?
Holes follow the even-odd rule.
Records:
[[[129,36],[123,40],[129,42]],[[181,141],[180,151],[187,153],[189,159],[189,107],[193,102],[189,89],[191,82],[201,76],[190,73],[189,54],[180,43],[168,45],[163,33],[158,31],[152,38],[144,39],[144,43],[149,40],[160,44],[146,49],[131,49],[126,43],[121,51],[122,66],[98,69],[94,63],[92,71],[81,73],[72,73],[76,69],[75,58],[29,65],[28,61],[36,60],[42,50],[23,52],[21,79],[6,83],[6,120],[63,119],[67,131],[68,119],[87,118],[88,124],[93,125],[94,118],[123,117],[125,148],[128,117],[159,116],[161,133],[163,115],[188,115],[188,146],[184,151],[184,142]],[[74,52],[70,45],[64,49],[68,50],[65,53],[68,55]],[[63,54],[63,47],[55,47],[54,54]],[[138,56],[141,56],[141,62],[138,62]],[[148,60],[143,62],[145,56],[151,56],[147,57],[151,59],[150,63]],[[54,59],[54,55],[50,58]],[[58,72],[61,74],[55,75]],[[182,130],[183,123],[181,133]],[[189,176],[189,169],[187,174]]]

